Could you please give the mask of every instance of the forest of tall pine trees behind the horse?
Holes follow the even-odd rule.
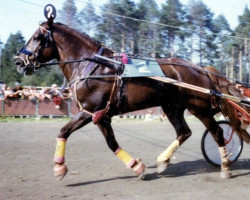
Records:
[[[91,0],[81,10],[74,0],[65,0],[56,21],[89,34],[116,52],[124,49],[141,58],[179,57],[200,66],[214,66],[229,78],[250,82],[247,5],[234,30],[223,15],[214,17],[201,0],[191,0],[187,5],[166,0],[161,7],[155,0],[110,0],[98,12]],[[13,56],[25,43],[20,31],[10,34],[0,51],[0,80],[9,86],[16,81],[31,86],[66,84],[59,66],[45,67],[27,77],[19,74]]]

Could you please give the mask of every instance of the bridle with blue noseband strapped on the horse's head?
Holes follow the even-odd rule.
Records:
[[[29,67],[32,71],[36,71],[36,69],[40,67],[40,62],[38,61],[39,55],[42,54],[45,48],[54,42],[51,30],[47,30],[41,25],[39,26],[39,37],[42,37],[40,42],[41,47],[37,52],[24,46],[17,52],[16,56],[14,56],[14,59],[22,60],[24,66]],[[19,56],[21,53],[25,55],[24,58]]]

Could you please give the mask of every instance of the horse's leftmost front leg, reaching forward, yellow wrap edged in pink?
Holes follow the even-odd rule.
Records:
[[[88,114],[80,112],[61,129],[61,132],[57,137],[54,155],[54,175],[56,177],[62,179],[68,171],[67,166],[65,165],[65,148],[68,137],[72,132],[88,124],[91,120],[92,119]]]

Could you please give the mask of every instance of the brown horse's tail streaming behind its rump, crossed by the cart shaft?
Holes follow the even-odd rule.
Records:
[[[221,74],[218,72],[214,67],[206,67],[205,70],[210,71],[212,73],[208,73],[215,90],[222,92],[224,94],[229,94],[232,96],[237,96],[242,99],[245,97],[241,93],[241,91],[236,87],[236,84],[231,83],[227,78],[223,76],[217,76],[216,74]],[[235,112],[235,107],[228,102],[226,99],[220,99],[220,107],[221,113],[224,117],[228,118],[230,124],[232,125],[233,129],[236,131],[237,135],[242,138],[245,142],[250,143],[250,134],[246,131],[246,129],[242,128],[242,121],[237,117]],[[246,112],[249,113],[250,109],[247,106],[240,105]]]

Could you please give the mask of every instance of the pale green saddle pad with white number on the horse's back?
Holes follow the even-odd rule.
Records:
[[[163,74],[160,65],[156,60],[142,60],[142,59],[128,59],[128,64],[125,68],[122,77],[149,77],[149,76],[162,76]]]

